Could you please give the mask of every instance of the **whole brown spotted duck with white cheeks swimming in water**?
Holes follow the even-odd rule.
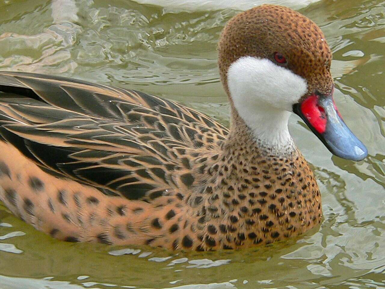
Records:
[[[291,8],[233,17],[218,44],[229,128],[140,91],[0,72],[0,200],[69,242],[203,251],[304,234],[321,223],[321,193],[289,116],[340,158],[368,153],[333,100],[331,59]]]

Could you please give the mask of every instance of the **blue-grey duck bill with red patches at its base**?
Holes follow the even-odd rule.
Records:
[[[294,104],[293,111],[333,155],[353,161],[363,160],[368,155],[365,145],[343,121],[333,100],[333,91],[330,94],[311,94],[304,101]]]

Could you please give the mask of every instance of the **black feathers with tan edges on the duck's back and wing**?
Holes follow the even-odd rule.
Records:
[[[64,77],[0,72],[2,138],[45,171],[147,202],[194,185],[190,160],[228,129],[142,92]]]

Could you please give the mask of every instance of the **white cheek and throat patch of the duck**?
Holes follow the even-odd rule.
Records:
[[[293,104],[307,91],[305,79],[271,60],[251,56],[231,64],[227,77],[234,106],[258,145],[278,156],[295,150],[288,120]]]

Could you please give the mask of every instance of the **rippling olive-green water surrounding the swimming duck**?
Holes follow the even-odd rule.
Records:
[[[228,124],[216,43],[235,11],[62,2],[0,1],[1,70],[139,89]],[[321,188],[320,227],[271,247],[179,254],[130,247],[137,250],[122,255],[127,248],[54,240],[0,204],[0,288],[385,288],[385,1],[323,0],[300,12],[326,35],[336,103],[369,151],[358,163],[331,156],[291,118]]]

